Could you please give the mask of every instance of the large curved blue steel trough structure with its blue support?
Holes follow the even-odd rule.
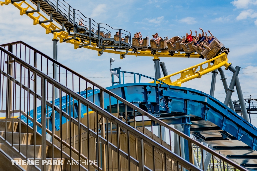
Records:
[[[107,89],[168,124],[181,124],[185,134],[194,135],[198,141],[207,143],[227,158],[240,163],[241,166],[251,170],[257,168],[257,128],[214,97],[191,88],[153,83],[120,84],[107,87]],[[85,93],[86,91],[81,92],[81,95]],[[88,93],[88,99],[93,102],[94,94],[95,104],[99,105],[99,90],[94,92],[89,90]],[[63,97],[63,109],[66,107],[65,98]],[[55,104],[59,106],[58,100]],[[78,116],[76,104],[75,100],[75,117]],[[109,96],[106,95],[104,104],[106,111],[109,112],[111,107],[112,113],[117,114],[120,119],[127,120],[131,126],[136,123],[137,127],[142,127],[142,120],[129,121],[134,119],[133,110],[129,107],[125,109],[125,105],[121,102],[118,104],[119,113],[117,113],[117,100],[111,99],[111,106],[109,106]],[[68,102],[68,107],[70,105],[73,105],[72,100],[71,103]],[[38,108],[38,115],[40,115],[40,109],[41,107]],[[86,106],[81,110],[81,117],[84,117]],[[124,115],[125,110],[127,110],[127,118]],[[48,113],[51,115],[50,110]],[[140,116],[140,113],[136,112],[136,116]],[[59,119],[56,118],[56,123]],[[63,118],[62,121],[65,123],[66,119]],[[151,126],[151,124],[158,125],[146,123],[144,127]],[[51,129],[51,123],[49,123],[49,128]],[[58,127],[55,129],[59,130]],[[185,159],[189,159],[187,152],[189,149],[186,143],[187,140],[184,142]]]

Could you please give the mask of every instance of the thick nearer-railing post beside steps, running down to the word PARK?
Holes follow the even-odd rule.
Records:
[[[42,77],[42,88],[41,88],[41,124],[42,124],[42,136],[41,136],[41,160],[46,160],[46,103],[47,103],[47,80]],[[42,161],[43,163],[43,161]],[[46,165],[41,166],[41,170],[46,170]]]

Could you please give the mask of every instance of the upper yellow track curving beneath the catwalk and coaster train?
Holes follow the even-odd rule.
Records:
[[[0,1],[0,5],[2,5],[2,6],[3,5],[8,5],[10,3],[11,3],[10,0],[5,0],[4,2]],[[20,3],[13,3],[13,5],[20,10],[20,15],[26,14],[25,11],[28,10],[29,8],[31,8],[31,10],[35,10],[35,8],[32,7],[26,1],[22,1]],[[25,7],[22,7],[22,5],[25,6]],[[38,14],[38,16],[34,16],[35,14]],[[47,17],[42,15],[40,12],[29,13],[29,14],[26,14],[26,15],[29,16],[33,20],[33,25],[39,24],[39,18],[40,17],[43,17],[44,20],[49,20],[49,19],[47,19]],[[48,24],[48,25],[44,24],[44,23],[42,23],[40,25],[45,29],[45,33],[46,34],[51,33],[51,30],[60,30],[60,28],[57,25],[55,25],[53,22],[50,22],[50,24]],[[69,36],[66,31],[62,31],[62,32],[58,32],[58,33],[53,33],[53,35],[54,35],[54,39],[58,39],[59,38],[60,43],[63,42],[63,39],[71,38],[71,36]],[[80,40],[79,41],[69,40],[69,41],[67,41],[67,43],[74,44],[74,49],[78,49],[79,45],[87,44],[88,42],[87,41],[81,42]],[[91,46],[85,46],[83,48],[87,48],[87,49],[91,49],[91,50],[96,50],[96,51],[101,51],[102,50],[102,49],[97,48],[97,45],[95,43],[91,43],[91,44],[92,44]],[[104,52],[114,53],[114,54],[118,54],[118,55],[121,56],[126,51],[105,50]],[[98,52],[97,52],[97,54],[98,54]],[[171,57],[167,51],[157,52],[155,55],[152,55],[150,50],[138,50],[138,52],[134,53],[134,52],[131,51],[131,49],[128,51],[127,55],[132,55],[132,56],[149,56],[149,57],[153,57],[153,58]],[[185,53],[178,52],[178,53],[175,53],[174,56],[172,56],[172,57],[184,57],[184,58],[187,58],[185,55],[186,55]],[[98,56],[100,56],[100,55],[98,55]],[[192,53],[190,55],[190,57],[191,58],[199,58],[199,55],[197,53],[196,54]],[[122,59],[122,57],[121,57],[121,59]]]

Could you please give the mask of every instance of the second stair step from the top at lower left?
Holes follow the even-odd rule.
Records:
[[[27,143],[27,133],[21,133],[21,144],[22,145],[26,145]],[[4,131],[0,131],[0,136],[2,136],[3,138],[5,138],[5,132]],[[13,133],[13,144],[19,144],[19,132],[14,132]],[[34,141],[33,141],[33,134],[32,133],[28,133],[28,144],[29,145],[33,145]],[[6,135],[6,139],[9,143],[12,143],[12,132],[7,132]]]

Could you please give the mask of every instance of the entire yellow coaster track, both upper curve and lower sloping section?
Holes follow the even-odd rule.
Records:
[[[11,3],[10,0],[5,0],[4,2],[0,1],[0,5],[2,5],[2,6],[8,5],[10,3]],[[11,4],[13,4],[15,7],[17,7],[20,10],[20,15],[26,14],[26,10],[28,10],[29,8],[31,8],[31,10],[35,10],[35,8],[33,6],[31,6],[29,3],[27,3],[26,1],[21,1],[20,3],[14,2]],[[22,7],[22,5],[24,7]],[[35,14],[38,14],[38,16],[35,16]],[[47,17],[42,15],[40,12],[28,13],[26,15],[29,16],[33,20],[33,25],[39,24],[40,17],[42,17],[44,20],[48,20]],[[40,25],[45,29],[46,34],[52,33],[51,32],[52,30],[60,30],[60,28],[53,22],[50,22],[50,24],[48,24],[48,25],[44,24],[44,23],[42,23]],[[63,43],[63,39],[72,38],[72,36],[70,36],[66,31],[54,32],[53,35],[54,35],[53,39],[59,39],[60,43]],[[79,40],[78,39],[77,40],[74,40],[74,39],[68,40],[66,42],[74,44],[74,49],[78,49],[80,45],[84,45],[84,44],[88,43],[88,41],[81,41],[80,39]],[[97,48],[97,45],[95,43],[91,43],[90,46],[84,46],[84,48],[95,50],[98,52],[100,52],[102,50],[102,49]],[[104,52],[114,53],[114,54],[119,54],[119,55],[125,54],[125,51],[122,51],[122,50],[121,51],[105,50]],[[131,51],[131,49],[128,50],[127,55],[149,56],[149,57],[153,57],[154,59],[158,59],[159,57],[171,57],[167,51],[157,52],[155,55],[152,55],[150,50],[138,50],[138,52],[134,53]],[[186,57],[185,55],[186,55],[185,53],[178,52],[178,53],[174,53],[174,56],[172,56],[172,57]],[[98,56],[100,56],[100,55],[98,55]],[[192,53],[190,55],[190,57],[191,58],[199,58],[199,55],[197,53],[196,54]],[[121,58],[122,58],[122,56],[121,56]],[[213,61],[214,61],[214,63],[211,64],[211,62],[213,62]],[[220,68],[222,66],[225,66],[227,69],[231,65],[231,63],[228,63],[227,61],[228,61],[227,55],[225,53],[222,53],[221,55],[219,55],[217,57],[214,57],[210,60],[207,60],[207,61],[197,64],[195,66],[183,69],[176,73],[170,74],[168,76],[162,77],[159,80],[161,80],[169,85],[181,86],[182,83],[185,83],[194,78],[200,78],[202,75],[207,74],[211,71],[214,71],[215,69]],[[204,64],[208,64],[208,66],[206,68],[203,68]],[[178,74],[180,74],[180,78],[172,82],[171,81],[172,76],[175,76]]]

